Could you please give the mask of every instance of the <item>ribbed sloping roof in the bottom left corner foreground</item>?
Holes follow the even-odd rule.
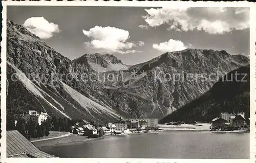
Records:
[[[54,157],[40,151],[17,130],[6,131],[7,157]]]

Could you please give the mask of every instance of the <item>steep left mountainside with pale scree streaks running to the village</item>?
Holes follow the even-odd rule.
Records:
[[[7,21],[7,113],[33,109],[69,119],[120,118],[111,106],[92,96],[101,93],[102,83],[90,82],[88,86],[81,80],[76,81],[76,73],[78,76],[88,73],[88,69],[83,70],[78,73],[71,60],[23,26]]]

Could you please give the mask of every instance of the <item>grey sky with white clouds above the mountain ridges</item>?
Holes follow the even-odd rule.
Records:
[[[249,55],[249,8],[8,6],[7,18],[71,60],[110,53],[134,65],[187,48]]]

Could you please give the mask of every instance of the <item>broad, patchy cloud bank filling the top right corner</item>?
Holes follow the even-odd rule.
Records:
[[[249,28],[249,8],[151,8],[142,16],[148,26],[169,25],[168,30],[224,34]]]

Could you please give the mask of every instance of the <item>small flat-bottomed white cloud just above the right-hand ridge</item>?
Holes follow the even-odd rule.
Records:
[[[174,52],[182,51],[187,48],[192,48],[193,45],[188,44],[187,46],[180,40],[169,39],[169,41],[161,42],[159,44],[154,43],[153,49],[159,50],[161,52]]]

